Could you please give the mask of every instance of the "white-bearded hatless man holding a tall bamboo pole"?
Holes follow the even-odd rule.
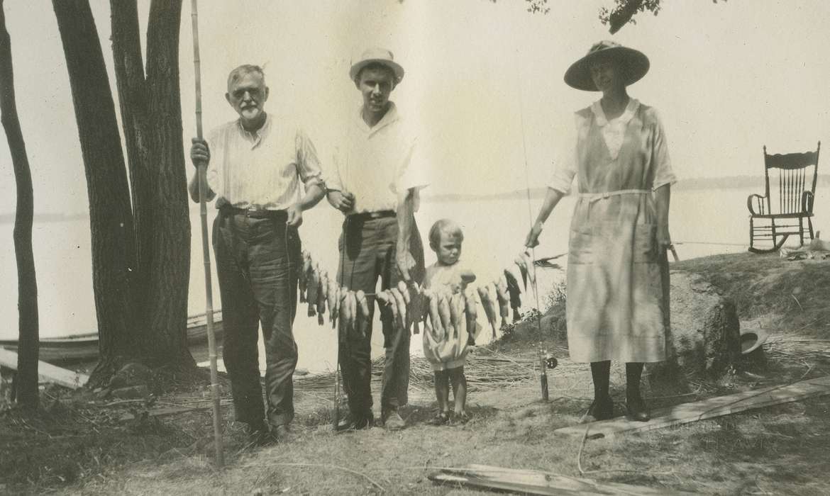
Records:
[[[285,119],[266,114],[268,86],[259,66],[239,66],[227,78],[227,102],[239,119],[193,139],[193,164],[207,163],[207,200],[217,197],[213,223],[224,351],[236,420],[251,440],[289,435],[294,418],[294,323],[303,211],[325,195],[310,139]],[[275,122],[276,120],[276,122]],[[198,202],[196,177],[189,184]],[[267,411],[263,411],[256,342],[266,351]]]

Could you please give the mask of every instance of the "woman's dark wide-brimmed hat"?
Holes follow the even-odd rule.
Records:
[[[625,85],[636,83],[648,72],[648,57],[642,51],[613,41],[599,41],[591,46],[586,56],[575,61],[568,71],[565,71],[565,83],[577,90],[598,91],[591,78],[591,63],[605,57],[618,61],[620,66],[623,66]]]

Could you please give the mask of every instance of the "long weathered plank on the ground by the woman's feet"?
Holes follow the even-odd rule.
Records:
[[[813,396],[830,394],[830,376],[807,379],[784,386],[772,386],[743,391],[728,396],[718,396],[693,403],[670,406],[652,412],[652,420],[647,422],[629,421],[619,417],[608,421],[597,421],[590,424],[571,425],[554,430],[559,435],[585,435],[612,437],[613,435],[646,430],[662,429],[671,425],[688,424],[703,421],[717,416],[730,415],[739,411],[763,408],[764,406],[780,405],[790,401],[803,400]]]

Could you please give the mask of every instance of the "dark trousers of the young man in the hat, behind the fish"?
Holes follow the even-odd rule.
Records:
[[[374,294],[381,280],[381,290],[388,289],[401,280],[396,263],[395,248],[398,241],[398,220],[383,217],[357,221],[347,217],[339,240],[339,267],[337,281],[341,286],[356,291],[362,289]],[[416,261],[411,271],[413,280],[422,282],[424,275],[423,246],[421,236],[413,220],[413,232],[409,249]],[[374,316],[373,295],[367,296],[369,313]],[[409,387],[409,332],[393,325],[393,316],[381,309],[383,326],[383,386],[381,408],[391,411],[407,404]],[[364,319],[362,329],[347,332],[340,328],[340,369],[343,372],[343,388],[349,396],[349,411],[354,416],[369,416],[372,412],[372,318]]]

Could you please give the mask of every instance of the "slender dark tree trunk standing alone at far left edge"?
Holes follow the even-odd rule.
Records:
[[[12,71],[12,45],[6,30],[6,14],[0,0],[0,121],[6,131],[17,182],[17,211],[14,219],[14,253],[17,257],[17,309],[19,313],[17,374],[14,377],[15,400],[23,406],[37,407],[37,279],[32,254],[32,171],[26,143],[17,119]]]

